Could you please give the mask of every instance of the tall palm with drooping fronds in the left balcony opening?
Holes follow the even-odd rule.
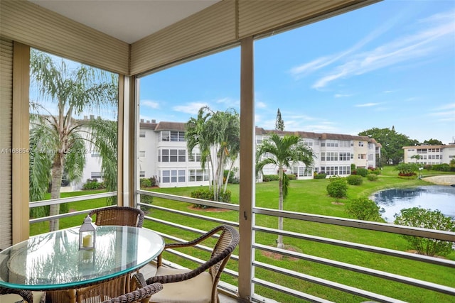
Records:
[[[86,146],[100,153],[101,169],[108,190],[117,187],[117,121],[76,119],[84,110],[100,111],[117,106],[117,75],[92,67],[68,67],[50,55],[32,50],[31,79],[38,96],[56,104],[57,113],[31,102],[30,118],[30,198],[44,199],[50,183],[50,199],[60,198],[63,171],[70,180],[80,180],[85,166]],[[87,143],[87,145],[85,144]],[[50,206],[50,216],[60,213]],[[50,221],[50,231],[58,220]]]

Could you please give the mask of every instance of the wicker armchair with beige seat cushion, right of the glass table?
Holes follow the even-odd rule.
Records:
[[[196,240],[186,243],[170,243],[164,247],[166,250],[196,246],[219,232],[221,234],[210,259],[194,270],[166,268],[162,266],[162,253],[159,255],[156,275],[147,279],[145,283],[150,285],[160,282],[163,284],[163,290],[151,297],[150,302],[219,302],[218,281],[232,251],[239,243],[240,236],[237,230],[232,226],[222,225],[213,228]]]

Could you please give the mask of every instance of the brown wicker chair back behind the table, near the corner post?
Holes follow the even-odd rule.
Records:
[[[109,206],[104,209],[94,209],[89,216],[97,215],[96,225],[122,225],[142,227],[144,211],[129,206]]]

